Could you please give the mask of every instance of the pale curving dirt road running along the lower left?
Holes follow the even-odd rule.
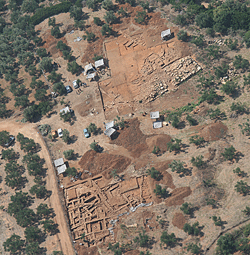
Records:
[[[51,162],[51,158],[45,142],[41,135],[36,131],[36,124],[21,124],[15,122],[14,120],[8,120],[0,122],[0,131],[6,130],[12,135],[17,135],[19,132],[25,136],[34,139],[36,143],[39,143],[41,146],[41,151],[39,154],[44,158],[47,165],[47,177],[46,177],[46,188],[52,191],[52,194],[49,198],[49,203],[54,209],[56,214],[55,221],[58,224],[59,233],[57,234],[58,240],[60,242],[63,254],[73,255],[75,250],[72,245],[72,241],[68,232],[67,222],[64,216],[64,211],[61,206],[59,193],[57,189],[57,179],[54,173],[54,167]]]

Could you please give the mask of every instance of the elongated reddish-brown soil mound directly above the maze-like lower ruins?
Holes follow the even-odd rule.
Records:
[[[78,162],[82,170],[88,170],[91,176],[103,173],[106,179],[111,178],[110,172],[114,169],[116,173],[123,172],[131,163],[131,160],[121,155],[113,155],[108,153],[97,153],[95,151],[87,151]],[[83,179],[89,178],[89,174],[82,175]]]

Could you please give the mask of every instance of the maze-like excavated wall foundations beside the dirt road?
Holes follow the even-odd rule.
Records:
[[[66,188],[64,196],[73,238],[77,240],[85,234],[84,245],[88,247],[114,241],[119,217],[152,204],[148,178],[140,176],[107,184],[99,175]]]

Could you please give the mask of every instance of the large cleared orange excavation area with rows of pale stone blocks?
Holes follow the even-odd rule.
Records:
[[[162,40],[162,26],[143,31],[134,26],[121,30],[117,39],[104,42],[110,75],[98,83],[107,119],[129,114],[171,91],[202,67],[185,44],[171,37]]]

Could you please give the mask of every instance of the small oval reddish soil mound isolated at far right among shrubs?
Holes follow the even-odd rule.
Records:
[[[201,130],[201,136],[204,137],[206,141],[218,141],[226,135],[227,130],[227,126],[223,123],[216,122],[205,126]]]

